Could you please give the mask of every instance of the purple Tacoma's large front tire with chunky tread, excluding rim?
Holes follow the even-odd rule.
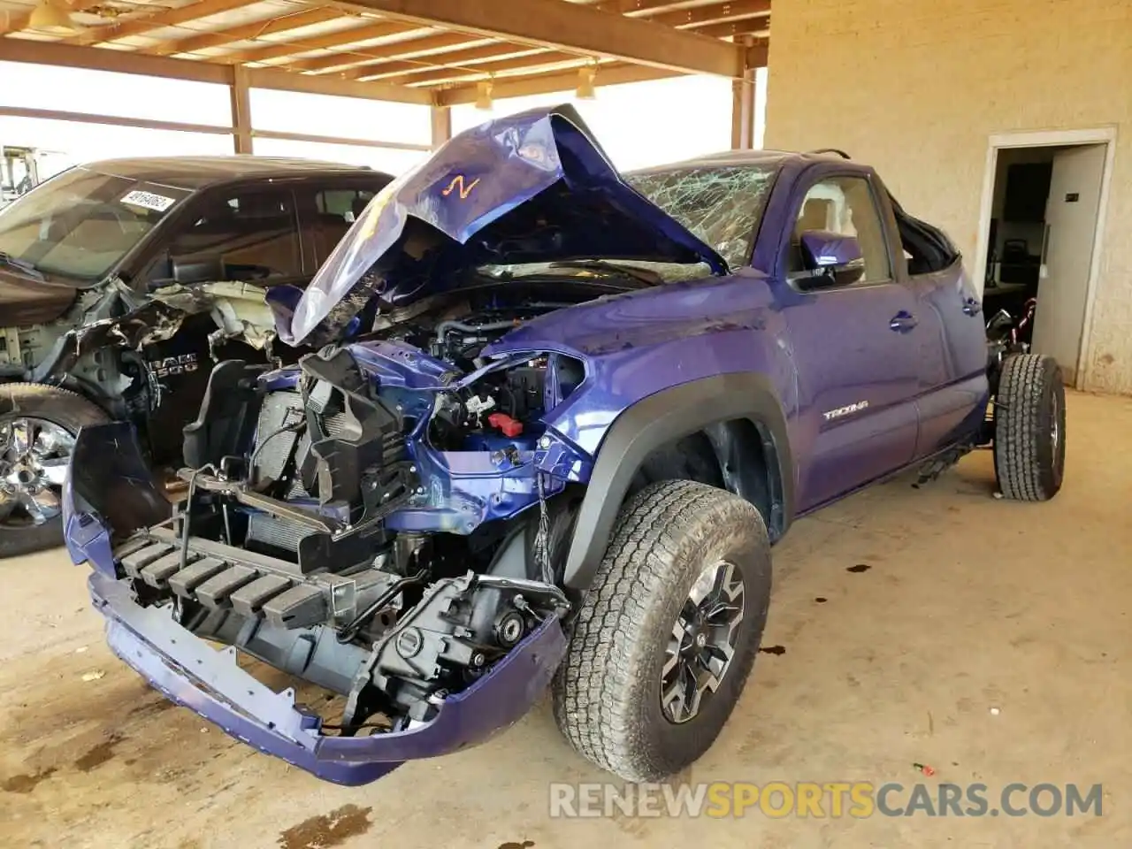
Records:
[[[721,559],[744,582],[735,653],[700,712],[676,724],[661,710],[664,650],[692,584]],[[555,678],[555,719],[566,739],[628,781],[659,780],[696,761],[743,692],[770,592],[770,541],[753,505],[693,481],[642,489],[621,507]]]

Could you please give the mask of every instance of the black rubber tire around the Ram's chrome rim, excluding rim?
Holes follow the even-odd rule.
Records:
[[[102,408],[67,389],[42,384],[0,385],[0,421],[22,415],[54,422],[72,435],[87,424],[110,421]],[[55,548],[62,542],[62,516],[32,528],[0,525],[0,559]]]

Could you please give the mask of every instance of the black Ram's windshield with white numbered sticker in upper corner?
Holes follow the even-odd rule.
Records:
[[[187,195],[75,168],[0,209],[0,254],[43,274],[96,281]]]

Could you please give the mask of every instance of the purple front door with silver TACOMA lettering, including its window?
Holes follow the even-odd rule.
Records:
[[[799,512],[911,461],[920,342],[916,299],[895,276],[871,173],[834,165],[812,172],[775,275],[798,375]],[[807,269],[807,231],[856,238],[856,271]]]

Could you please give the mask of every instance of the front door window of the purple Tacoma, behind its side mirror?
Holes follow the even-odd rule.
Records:
[[[860,282],[892,280],[881,213],[865,178],[831,177],[809,188],[790,239],[789,272],[803,271],[801,234],[807,230],[856,237],[865,265]]]

